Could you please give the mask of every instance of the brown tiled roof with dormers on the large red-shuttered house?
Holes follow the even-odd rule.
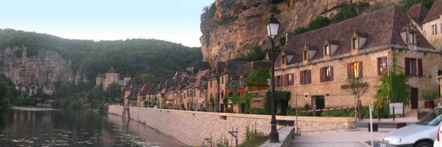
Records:
[[[402,10],[393,5],[337,24],[292,36],[288,38],[282,50],[293,52],[295,55],[288,64],[302,63],[304,45],[321,47],[310,60],[322,59],[324,56],[322,46],[325,41],[335,40],[339,42],[339,46],[330,57],[348,55],[351,53],[351,38],[355,32],[365,33],[368,36],[359,51],[389,45],[406,45],[400,32],[408,25],[409,18]],[[416,32],[416,41],[417,47],[434,49],[419,32]],[[280,61],[279,55],[275,62],[276,67],[280,67]]]

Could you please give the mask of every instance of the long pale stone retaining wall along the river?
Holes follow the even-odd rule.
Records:
[[[231,142],[228,131],[238,127],[238,144],[241,144],[246,134],[246,127],[256,127],[258,132],[270,132],[270,115],[248,115],[231,113],[196,112],[168,109],[153,109],[130,107],[131,119],[146,123],[178,141],[189,146],[200,146],[205,138],[212,136],[214,144],[221,135]],[[109,113],[122,115],[123,106],[109,106]],[[276,116],[278,121],[295,121],[294,116]],[[347,131],[355,126],[354,118],[338,117],[299,117],[299,132],[311,134],[331,131]],[[282,125],[277,125],[281,128]],[[296,127],[296,122],[295,122]],[[235,142],[233,142],[235,143]]]

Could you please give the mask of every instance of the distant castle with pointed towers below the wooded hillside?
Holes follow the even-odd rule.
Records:
[[[96,85],[103,84],[104,89],[107,89],[113,82],[120,85],[120,89],[123,89],[130,79],[131,76],[128,73],[126,73],[126,75],[120,75],[119,73],[115,72],[113,67],[111,67],[106,74],[98,73],[97,77],[95,78]]]

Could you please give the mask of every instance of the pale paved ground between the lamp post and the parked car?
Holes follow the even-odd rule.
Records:
[[[378,132],[373,132],[374,141],[379,142],[382,135],[395,130],[395,128],[379,128]],[[370,132],[367,128],[360,128],[357,131],[332,132],[295,136],[292,140],[292,147],[370,147],[362,142],[370,141]],[[375,144],[379,146],[378,144]]]

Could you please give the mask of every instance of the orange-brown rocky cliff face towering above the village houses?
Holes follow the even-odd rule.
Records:
[[[339,8],[351,0],[216,0],[217,10],[213,18],[201,15],[200,38],[204,61],[225,61],[246,53],[255,46],[270,48],[265,25],[271,14],[281,23],[279,37],[306,26],[317,16],[334,16]],[[375,0],[353,0],[368,1]],[[387,2],[387,0],[378,0]],[[389,0],[390,2],[394,0]],[[273,8],[275,7],[275,8]],[[277,10],[280,12],[278,13]],[[274,10],[272,12],[272,10]],[[221,18],[233,16],[234,21],[220,23]],[[226,22],[226,21],[225,21]],[[218,25],[217,25],[218,24]]]

